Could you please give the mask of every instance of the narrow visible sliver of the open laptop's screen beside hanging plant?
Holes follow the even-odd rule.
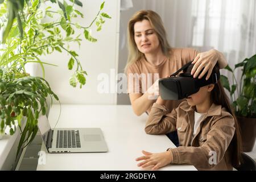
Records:
[[[49,125],[46,115],[40,115],[38,118],[38,129],[42,135],[44,144],[47,146],[47,136],[49,131],[51,131],[51,126]]]

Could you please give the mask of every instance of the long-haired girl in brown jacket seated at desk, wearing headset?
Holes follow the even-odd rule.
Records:
[[[216,66],[213,73],[217,72]],[[139,167],[154,170],[168,164],[191,164],[199,170],[232,170],[240,165],[240,127],[220,81],[201,87],[171,113],[164,102],[159,97],[152,106],[145,131],[166,134],[177,130],[180,146],[160,153],[142,151],[144,156],[136,159],[143,160]]]

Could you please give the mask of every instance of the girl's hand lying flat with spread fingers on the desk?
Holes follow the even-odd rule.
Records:
[[[146,168],[148,166],[153,166],[151,169],[156,170],[160,167],[167,166],[172,161],[170,151],[151,153],[143,150],[142,153],[144,156],[136,159],[136,161],[144,160],[143,162],[137,164],[138,167]]]

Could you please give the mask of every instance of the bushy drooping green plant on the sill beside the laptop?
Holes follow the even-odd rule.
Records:
[[[13,135],[16,131],[15,120],[18,121],[22,133],[18,154],[23,143],[29,144],[34,139],[38,131],[39,114],[46,114],[48,107],[46,98],[51,97],[51,103],[53,98],[57,101],[59,98],[52,92],[44,78],[19,72],[5,72],[2,69],[0,69],[0,93],[0,132],[3,133],[6,126],[9,126],[10,134]],[[24,129],[20,123],[22,117],[27,118]]]

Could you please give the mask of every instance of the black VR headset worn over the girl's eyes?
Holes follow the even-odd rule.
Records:
[[[219,69],[216,69],[217,72],[215,72],[213,68],[209,79],[205,80],[207,74],[200,79],[193,78],[193,76],[190,74],[193,65],[194,64],[192,64],[191,61],[190,63],[185,64],[170,77],[159,80],[159,93],[163,100],[181,100],[191,96],[194,93],[197,93],[202,86],[216,84],[218,82],[220,78]],[[216,64],[215,67],[218,67],[218,65]],[[176,76],[180,71],[184,71],[184,73],[180,73],[179,76]]]

